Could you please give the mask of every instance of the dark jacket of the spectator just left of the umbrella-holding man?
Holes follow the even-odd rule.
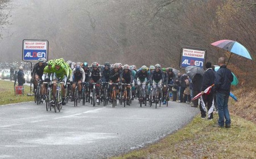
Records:
[[[212,69],[207,69],[207,71],[203,75],[203,83],[202,83],[202,88],[201,91],[204,91],[207,89],[209,86],[214,84],[215,80],[215,72]],[[214,87],[210,90],[210,93],[214,92]]]

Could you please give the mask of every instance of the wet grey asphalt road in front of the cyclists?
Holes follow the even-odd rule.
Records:
[[[0,107],[0,158],[108,158],[154,143],[189,123],[199,109],[86,103],[46,111],[34,102]]]

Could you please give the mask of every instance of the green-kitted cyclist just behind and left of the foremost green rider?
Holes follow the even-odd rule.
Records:
[[[44,81],[44,82],[52,81],[52,74],[53,74],[52,67],[53,67],[53,65],[54,65],[54,61],[49,60],[47,66],[44,68],[42,81]],[[46,85],[43,83],[42,86],[41,86],[41,94],[42,94],[42,97],[43,97],[43,98],[41,98],[42,100],[45,99],[46,91],[47,91]]]

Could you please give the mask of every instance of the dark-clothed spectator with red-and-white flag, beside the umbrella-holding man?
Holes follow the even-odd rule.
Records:
[[[209,110],[210,107],[212,107],[212,101],[213,101],[213,95],[214,95],[214,87],[210,90],[209,94],[204,94],[204,90],[207,89],[209,86],[212,86],[215,80],[215,73],[212,70],[212,63],[207,62],[205,64],[205,68],[207,70],[205,71],[203,75],[203,83],[202,83],[202,88],[201,88],[201,93],[202,93],[202,98],[205,103],[205,107]],[[201,118],[205,119],[206,114],[205,111],[203,110],[203,107],[200,104],[200,111],[201,111]],[[210,114],[210,117],[208,120],[213,119],[213,113]]]

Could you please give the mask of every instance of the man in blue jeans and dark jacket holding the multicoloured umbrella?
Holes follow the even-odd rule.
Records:
[[[220,69],[216,72],[214,86],[216,89],[217,107],[218,107],[218,125],[217,127],[230,128],[231,120],[228,109],[229,93],[233,75],[231,71],[226,68],[225,57],[218,58]],[[226,121],[225,121],[225,119]]]

